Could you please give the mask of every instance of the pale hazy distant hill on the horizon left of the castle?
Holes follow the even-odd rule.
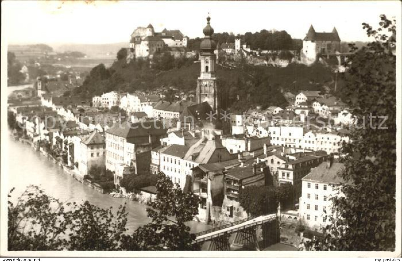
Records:
[[[121,47],[127,47],[127,42],[107,44],[53,44],[55,52],[81,52],[92,58],[103,58],[107,56],[116,57]]]

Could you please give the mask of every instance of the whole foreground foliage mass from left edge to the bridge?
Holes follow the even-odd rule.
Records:
[[[156,200],[147,209],[152,222],[125,235],[127,212],[90,204],[62,203],[30,186],[8,201],[8,250],[197,250],[185,225],[198,212],[198,198],[183,193],[163,173]],[[10,193],[12,193],[11,190]]]

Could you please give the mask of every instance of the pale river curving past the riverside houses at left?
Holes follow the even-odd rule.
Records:
[[[100,194],[65,173],[61,167],[47,160],[41,153],[34,151],[31,146],[15,141],[10,135],[8,135],[7,142],[6,179],[9,189],[15,187],[15,191],[12,193],[13,199],[21,195],[27,186],[39,185],[48,195],[61,201],[81,203],[88,200],[100,208],[112,206],[113,210],[117,210],[120,205],[126,203],[127,233],[132,233],[137,227],[150,222],[147,217],[146,205],[124,198],[113,198],[108,194]],[[191,227],[191,232],[210,228],[210,226],[196,221],[191,221],[188,225]]]

